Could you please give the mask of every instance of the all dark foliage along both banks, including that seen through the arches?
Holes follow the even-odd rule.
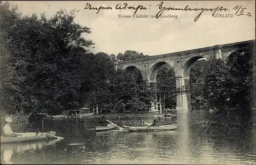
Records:
[[[139,71],[114,69],[115,61],[147,55],[90,53],[94,43],[82,34],[90,34],[91,29],[74,22],[76,12],[60,10],[49,19],[44,14],[22,16],[17,8],[0,2],[2,110],[57,114],[92,105],[102,112],[148,110],[154,98],[148,95]],[[191,93],[193,109],[251,107],[253,55],[242,51],[226,61],[196,62],[190,68],[190,83],[202,83],[205,92]],[[174,70],[165,64],[158,70],[157,89],[175,88]],[[176,97],[165,100],[165,108],[175,106]]]

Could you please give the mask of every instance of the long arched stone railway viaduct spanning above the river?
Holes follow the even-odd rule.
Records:
[[[133,70],[137,68],[142,75],[143,81],[146,81],[151,86],[156,86],[158,69],[167,63],[174,69],[176,76],[176,87],[179,88],[189,84],[190,67],[199,59],[220,58],[226,60],[226,58],[234,52],[248,50],[253,51],[255,55],[255,40],[215,45],[195,50],[116,62],[115,69]],[[191,109],[190,93],[184,93],[177,96],[176,108],[177,111],[181,113]]]

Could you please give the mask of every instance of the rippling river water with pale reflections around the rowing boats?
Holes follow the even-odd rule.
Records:
[[[121,126],[153,121],[152,114],[105,115]],[[222,114],[192,111],[161,117],[177,130],[96,132],[100,116],[78,120],[12,124],[15,132],[56,131],[59,142],[1,144],[5,164],[255,164],[255,118],[231,120]],[[42,127],[43,126],[43,127]]]

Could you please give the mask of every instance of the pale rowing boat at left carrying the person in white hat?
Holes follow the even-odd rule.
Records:
[[[46,133],[36,133],[30,132],[26,133],[26,135],[22,135],[20,137],[3,137],[1,136],[1,143],[13,143],[13,142],[25,142],[29,140],[39,140],[39,139],[48,139],[55,136],[55,131],[50,131]],[[53,136],[51,136],[53,135]]]

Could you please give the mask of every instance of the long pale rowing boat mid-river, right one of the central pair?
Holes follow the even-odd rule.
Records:
[[[129,131],[148,131],[148,130],[173,130],[177,129],[179,124],[164,125],[164,126],[143,126],[143,127],[130,127],[123,125],[123,128]]]

